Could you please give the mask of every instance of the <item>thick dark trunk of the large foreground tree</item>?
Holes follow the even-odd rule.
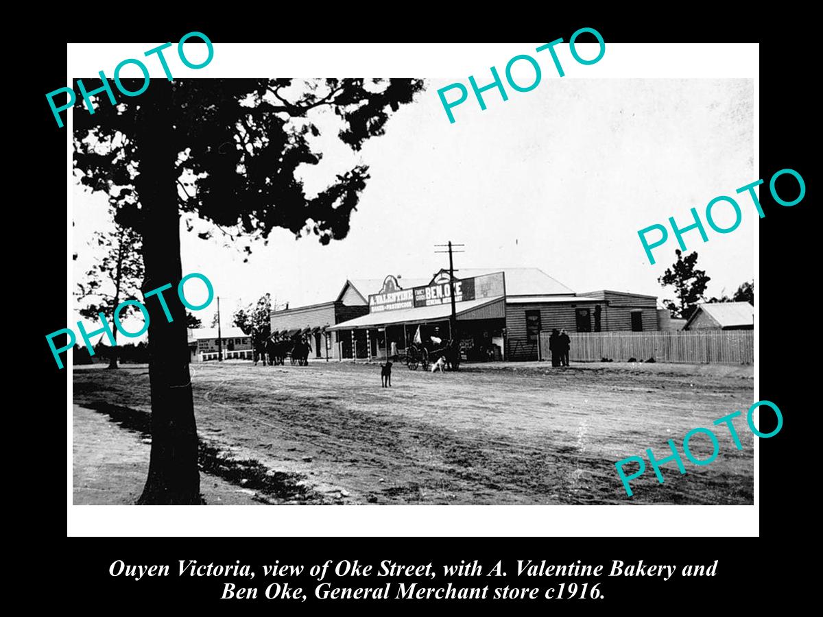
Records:
[[[171,284],[163,296],[173,321],[165,317],[156,297],[146,299],[149,324],[149,379],[151,382],[151,461],[146,486],[137,503],[198,504],[198,434],[194,423],[192,383],[188,372],[186,310],[177,295],[182,278],[179,211],[177,203],[177,153],[169,146],[166,110],[170,109],[172,85],[151,81],[156,105],[140,109],[140,174],[137,195],[142,221],[143,293]],[[134,113],[134,112],[133,112]]]

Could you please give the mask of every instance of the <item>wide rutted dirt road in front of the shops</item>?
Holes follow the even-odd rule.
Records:
[[[709,466],[650,466],[628,498],[614,463],[669,455],[690,429],[751,405],[751,367],[545,363],[423,373],[376,364],[193,364],[198,433],[226,459],[302,477],[299,503],[752,503],[753,438],[717,429]],[[75,367],[74,401],[150,412],[145,365]],[[708,457],[708,439],[690,444]],[[294,500],[292,500],[294,501]]]

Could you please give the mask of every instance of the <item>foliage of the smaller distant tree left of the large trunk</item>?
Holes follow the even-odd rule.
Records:
[[[85,304],[79,313],[86,319],[99,321],[98,314],[103,313],[107,321],[114,318],[114,309],[121,302],[138,299],[138,292],[143,280],[143,257],[140,253],[140,235],[134,230],[115,225],[113,231],[95,231],[90,243],[98,257],[95,265],[86,272],[83,281],[77,283],[75,295]],[[133,313],[123,309],[121,321]],[[117,340],[117,328],[113,328],[114,340]],[[101,335],[102,336],[102,335]],[[117,367],[116,352],[110,355],[110,368]]]

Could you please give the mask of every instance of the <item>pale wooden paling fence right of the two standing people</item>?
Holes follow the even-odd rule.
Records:
[[[550,332],[541,332],[542,357],[551,358]],[[569,359],[578,362],[630,358],[689,364],[753,364],[753,330],[661,332],[569,332]]]

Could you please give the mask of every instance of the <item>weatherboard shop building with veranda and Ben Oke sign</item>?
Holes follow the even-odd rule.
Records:
[[[575,294],[539,268],[461,268],[458,274],[453,286],[463,360],[538,360],[540,332],[553,328],[569,332],[658,329],[655,296],[611,290]],[[357,304],[360,314],[347,319],[335,316],[332,322],[329,313],[323,332],[332,357],[384,359],[403,355],[414,341],[448,340],[449,271],[441,270],[421,285],[411,282],[389,275],[366,294],[369,286],[375,286],[372,280],[358,291],[363,299]]]

